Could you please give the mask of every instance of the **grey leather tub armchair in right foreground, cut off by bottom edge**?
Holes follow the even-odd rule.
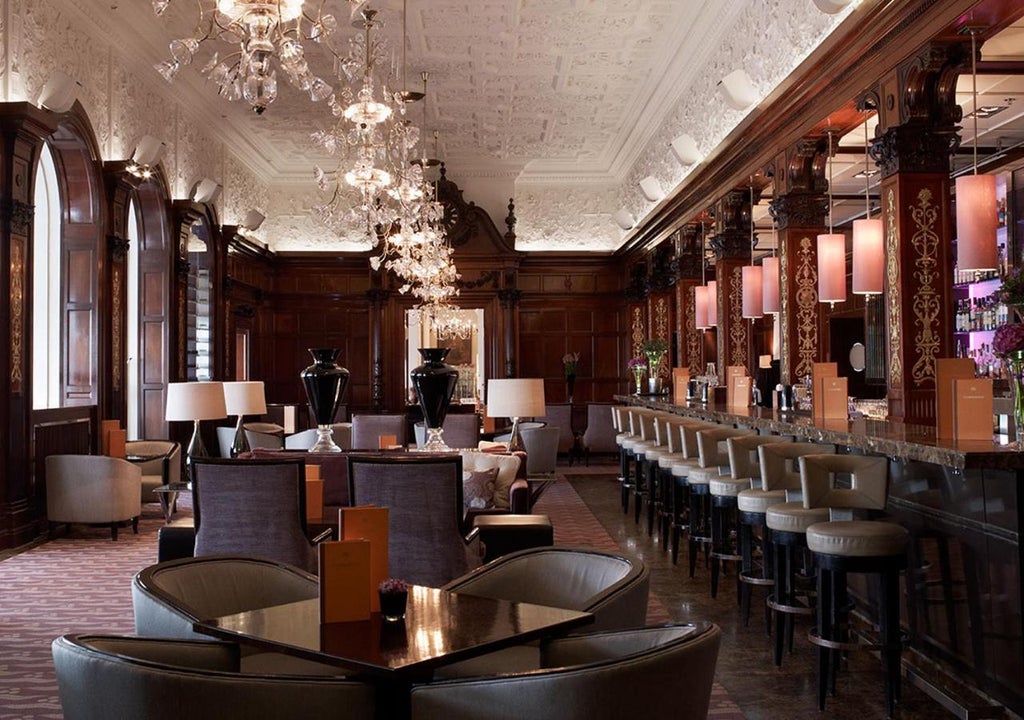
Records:
[[[418,685],[413,720],[703,720],[721,630],[670,625],[547,642],[540,669]],[[485,709],[485,711],[483,710]]]

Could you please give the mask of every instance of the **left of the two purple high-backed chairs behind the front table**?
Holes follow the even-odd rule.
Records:
[[[196,556],[253,555],[316,571],[302,460],[195,461]]]

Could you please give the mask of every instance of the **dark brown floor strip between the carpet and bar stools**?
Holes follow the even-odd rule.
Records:
[[[567,477],[605,530],[624,552],[642,558],[651,569],[651,592],[666,605],[673,620],[679,622],[711,620],[723,630],[722,650],[718,662],[718,681],[729,692],[750,720],[790,720],[791,718],[827,717],[850,720],[874,720],[886,717],[881,664],[870,652],[853,652],[838,680],[838,695],[829,697],[820,713],[815,700],[815,652],[806,639],[809,622],[798,620],[793,654],[782,667],[772,662],[772,641],[765,634],[763,613],[752,611],[743,627],[736,603],[734,569],[723,579],[718,598],[711,597],[710,570],[700,563],[691,580],[686,565],[686,551],[681,550],[678,565],[664,552],[657,535],[648,538],[646,523],[624,514],[620,505],[617,467],[610,464],[589,471],[604,475],[581,475],[582,468],[567,469]],[[755,590],[755,607],[764,593]],[[763,606],[763,605],[762,605]],[[921,690],[904,682],[903,702],[895,716],[901,720],[952,718],[951,713]]]

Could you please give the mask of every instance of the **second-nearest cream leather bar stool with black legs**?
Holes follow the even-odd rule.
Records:
[[[775,666],[782,665],[782,647],[793,651],[793,618],[810,616],[814,606],[810,600],[801,601],[797,593],[797,573],[794,555],[805,555],[807,528],[815,522],[828,519],[828,510],[808,510],[801,497],[800,468],[796,463],[804,455],[835,453],[835,446],[812,442],[774,442],[758,448],[761,460],[761,482],[765,491],[782,491],[784,503],[765,508],[765,527],[771,534],[772,574],[775,584],[768,597],[768,607],[775,613]],[[809,563],[803,563],[806,568]],[[806,573],[805,573],[806,576]]]

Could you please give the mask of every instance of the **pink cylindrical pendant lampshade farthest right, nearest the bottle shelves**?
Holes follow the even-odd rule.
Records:
[[[956,178],[956,268],[994,270],[998,266],[994,175]]]

